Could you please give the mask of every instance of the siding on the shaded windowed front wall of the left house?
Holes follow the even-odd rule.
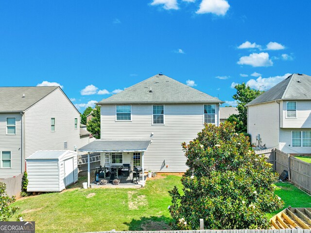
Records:
[[[7,118],[16,119],[15,134],[7,134]],[[22,172],[21,119],[22,115],[19,113],[0,113],[0,151],[10,151],[10,167],[2,167],[0,165],[0,179],[18,176]],[[1,160],[0,163],[2,163]],[[8,162],[4,163],[8,164]]]

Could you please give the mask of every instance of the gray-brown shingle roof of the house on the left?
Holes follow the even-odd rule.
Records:
[[[0,112],[24,111],[56,88],[58,86],[0,87]]]

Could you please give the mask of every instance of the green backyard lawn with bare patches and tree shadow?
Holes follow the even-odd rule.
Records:
[[[77,188],[47,193],[17,200],[13,205],[20,208],[17,215],[35,221],[38,233],[170,230],[168,190],[173,185],[181,188],[180,177],[148,180],[145,188],[140,189]],[[311,197],[292,184],[276,183],[276,186],[276,194],[285,201],[285,207],[311,207]],[[92,197],[86,198],[88,195]]]

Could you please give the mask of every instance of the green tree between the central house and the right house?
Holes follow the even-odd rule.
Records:
[[[236,131],[239,133],[247,132],[247,107],[245,106],[250,101],[256,99],[263,91],[259,91],[253,88],[250,88],[245,83],[236,84],[235,89],[237,93],[233,95],[233,99],[238,102],[238,111],[239,114],[233,114],[228,117],[227,121],[233,123],[236,122]]]

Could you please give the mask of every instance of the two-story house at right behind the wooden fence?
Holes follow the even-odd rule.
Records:
[[[246,106],[252,143],[311,153],[311,76],[292,74]]]

